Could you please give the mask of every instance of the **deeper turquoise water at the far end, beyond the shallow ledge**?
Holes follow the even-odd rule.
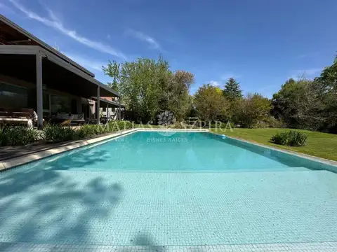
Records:
[[[289,156],[208,132],[137,132],[61,156],[44,169],[130,171],[277,171],[308,167]]]

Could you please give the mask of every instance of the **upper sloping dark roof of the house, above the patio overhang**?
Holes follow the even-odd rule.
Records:
[[[74,62],[69,57],[63,55],[58,50],[55,50],[50,45],[44,43],[44,41],[41,41],[39,38],[37,38],[33,34],[30,34],[25,29],[22,29],[22,27],[19,27],[14,22],[12,22],[11,20],[8,20],[8,18],[5,18],[4,15],[1,15],[1,14],[0,14],[0,44],[39,45],[41,48],[44,48],[45,50],[48,50],[48,52],[51,52],[54,55],[57,55],[61,59],[65,60],[65,62],[72,64],[72,66],[83,71],[89,76],[95,77],[95,74],[93,74],[91,71],[88,71],[83,66],[80,66],[79,64]]]

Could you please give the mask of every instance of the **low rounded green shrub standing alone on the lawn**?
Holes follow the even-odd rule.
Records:
[[[277,133],[270,139],[274,144],[287,146],[305,146],[308,136],[303,132],[290,130],[289,132]]]

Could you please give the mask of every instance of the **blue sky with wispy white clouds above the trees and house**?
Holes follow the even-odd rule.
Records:
[[[173,70],[271,97],[337,51],[336,0],[0,0],[0,13],[95,73],[107,60],[167,59]]]

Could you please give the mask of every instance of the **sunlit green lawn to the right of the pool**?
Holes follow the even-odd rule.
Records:
[[[259,144],[266,144],[276,148],[283,148],[290,151],[296,151],[298,153],[305,153],[308,155],[314,155],[319,158],[326,158],[329,160],[337,161],[337,134],[327,134],[322,132],[311,132],[308,130],[298,130],[308,135],[307,144],[302,147],[292,146],[280,146],[270,143],[270,138],[277,132],[283,132],[288,129],[240,129],[235,128],[233,132],[226,130],[226,132],[220,129],[211,129],[212,132],[218,134],[225,134],[229,137],[235,137],[238,139],[246,139],[249,141],[255,141]]]

